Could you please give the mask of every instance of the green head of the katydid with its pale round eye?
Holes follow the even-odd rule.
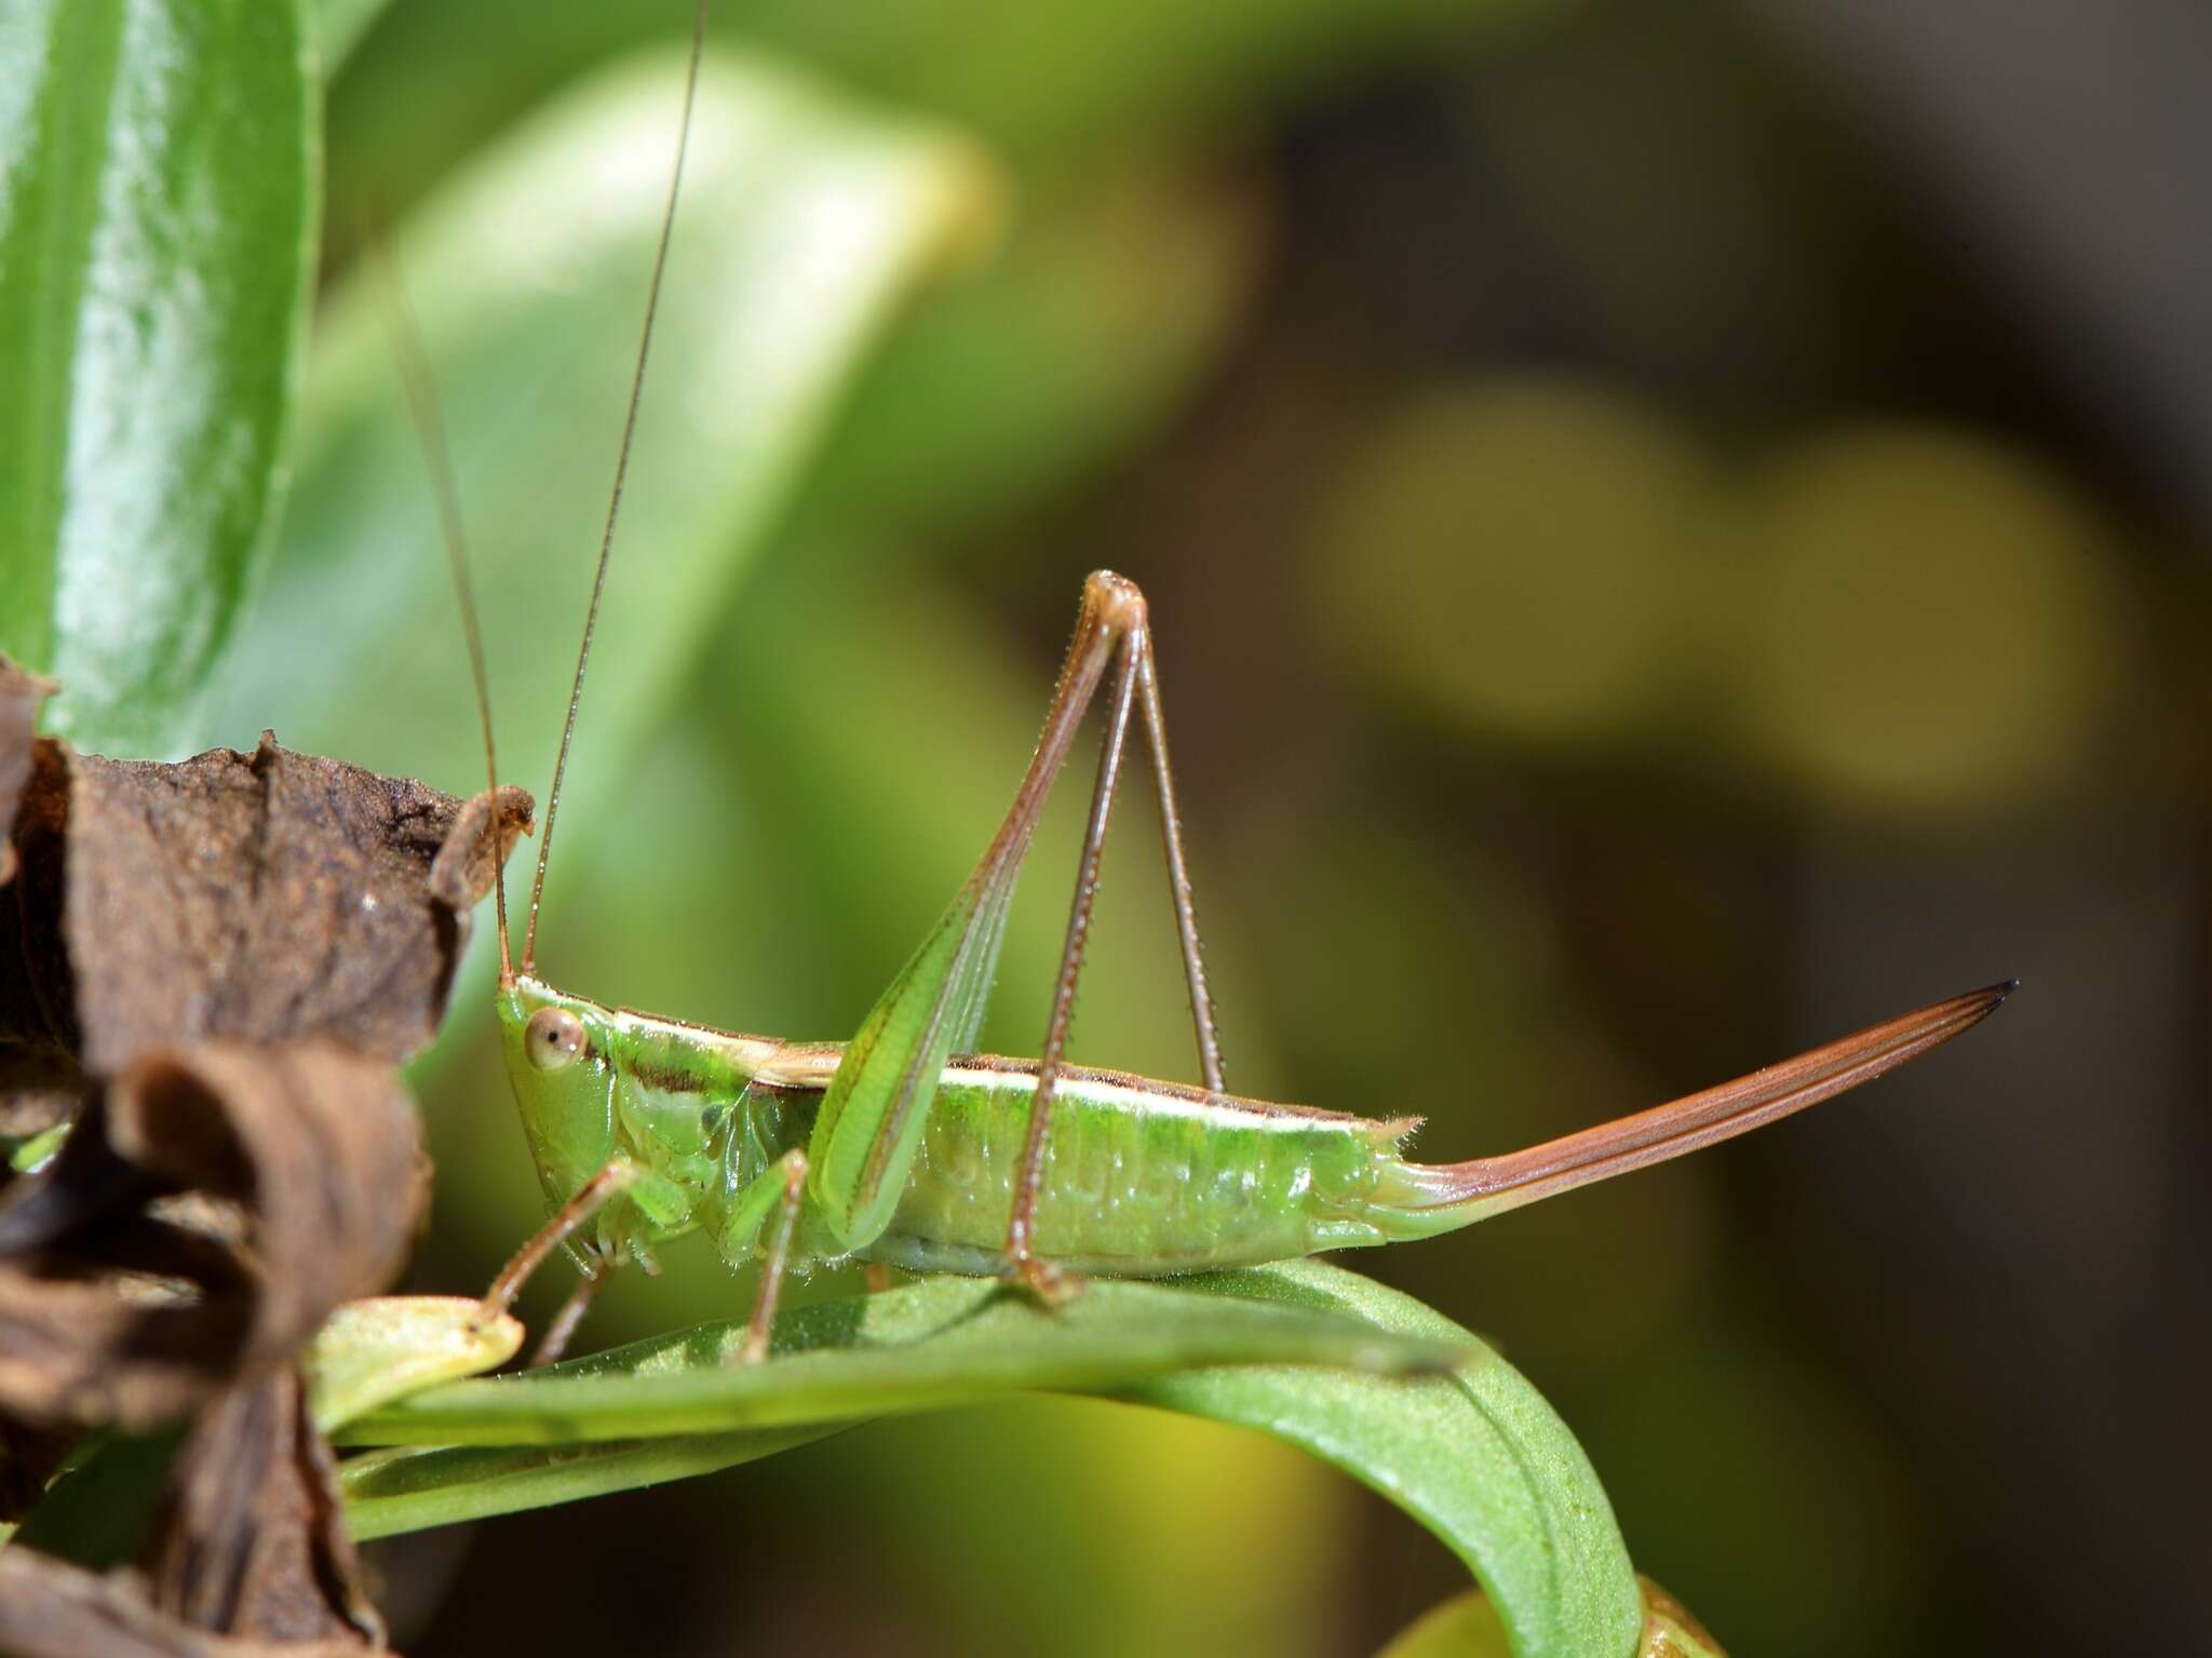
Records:
[[[546,1200],[560,1207],[615,1156],[611,1015],[515,975],[498,993],[500,1057]]]

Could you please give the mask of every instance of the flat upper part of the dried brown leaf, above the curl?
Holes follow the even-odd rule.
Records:
[[[491,884],[487,816],[268,734],[177,765],[38,743],[0,1021],[91,1077],[197,1037],[403,1061],[436,1035]],[[526,825],[529,796],[502,789],[502,856]]]

